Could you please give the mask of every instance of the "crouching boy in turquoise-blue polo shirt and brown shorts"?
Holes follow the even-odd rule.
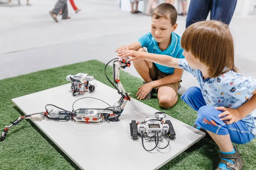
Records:
[[[177,28],[177,11],[169,3],[157,6],[152,14],[151,32],[140,37],[130,45],[123,45],[116,49],[143,51],[148,53],[169,55],[175,58],[184,58],[180,46],[180,36],[173,31]],[[177,102],[177,91],[180,88],[180,78],[183,70],[170,68],[146,60],[133,62],[135,69],[144,79],[144,85],[139,87],[137,99],[151,99],[152,89],[156,88],[159,105],[169,108]]]

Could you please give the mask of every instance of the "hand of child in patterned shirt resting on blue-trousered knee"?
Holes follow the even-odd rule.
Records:
[[[224,121],[227,125],[231,125],[232,123],[242,119],[237,109],[225,108],[223,106],[215,107],[215,109],[223,111],[223,113],[219,114],[218,117],[221,118],[221,121]]]

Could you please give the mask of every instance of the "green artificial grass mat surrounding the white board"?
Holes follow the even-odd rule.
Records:
[[[104,63],[90,60],[0,80],[0,130],[3,130],[5,125],[10,125],[10,121],[14,121],[20,115],[24,115],[12,103],[11,99],[67,84],[65,77],[79,72],[93,75],[95,79],[111,86],[105,78],[104,68]],[[107,67],[107,75],[112,77],[112,68],[110,66]],[[133,77],[124,71],[120,72],[120,79],[125,90],[131,92],[131,97],[135,98],[137,87],[143,84],[143,80]],[[142,100],[142,102],[159,111],[164,111],[188,125],[193,125],[195,122],[197,113],[189,108],[180,99],[180,96],[177,104],[169,109],[160,108],[155,95],[153,99]],[[70,144],[70,147],[72,147],[72,144]],[[244,160],[243,169],[255,170],[256,140],[248,144],[238,145],[238,149]],[[218,165],[218,153],[219,149],[215,142],[205,137],[160,169],[212,170]],[[102,161],[100,163],[103,163]],[[41,132],[31,120],[26,119],[12,127],[6,139],[0,142],[0,170],[27,169],[73,170],[80,168]]]

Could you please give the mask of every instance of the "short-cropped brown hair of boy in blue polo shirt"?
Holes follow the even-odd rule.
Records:
[[[152,17],[154,17],[155,19],[164,17],[170,20],[173,26],[177,21],[177,10],[173,5],[169,3],[161,3],[154,9]]]

